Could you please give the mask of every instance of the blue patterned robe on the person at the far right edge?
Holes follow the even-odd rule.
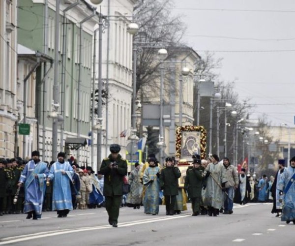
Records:
[[[295,220],[295,168],[285,168],[278,182],[278,189],[284,192],[281,220]]]

